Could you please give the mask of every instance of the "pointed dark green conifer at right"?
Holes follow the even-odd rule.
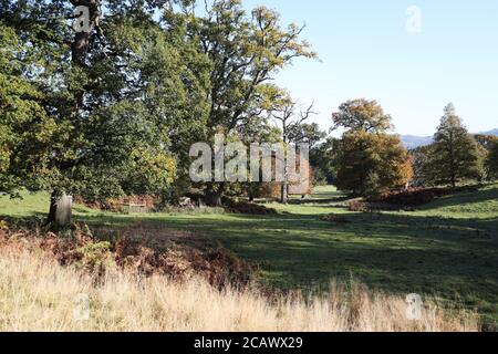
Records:
[[[453,104],[445,107],[445,114],[434,135],[428,168],[433,184],[450,184],[453,188],[460,180],[479,176],[477,143],[468,134]]]

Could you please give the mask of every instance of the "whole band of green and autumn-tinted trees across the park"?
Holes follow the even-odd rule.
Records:
[[[80,7],[89,31],[71,25]],[[417,152],[434,158],[408,154],[388,132],[391,117],[366,100],[341,105],[332,119],[342,138],[323,142],[308,122],[312,105],[272,83],[293,60],[317,58],[302,31],[264,7],[248,12],[240,0],[1,0],[0,191],[49,191],[49,222],[64,195],[178,200],[193,187],[189,147],[219,133],[243,143],[308,142],[317,177],[357,195],[402,187],[413,175],[456,184],[484,164],[483,149],[496,175],[496,144],[475,144],[450,108],[434,146]],[[195,187],[209,205],[262,188]]]

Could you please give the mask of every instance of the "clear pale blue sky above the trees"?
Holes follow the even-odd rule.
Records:
[[[286,23],[307,24],[303,38],[321,61],[299,60],[277,83],[302,103],[314,100],[323,128],[342,102],[360,97],[377,100],[401,134],[432,135],[448,102],[469,131],[498,127],[496,0],[243,3],[274,9]],[[421,11],[419,22],[407,14],[412,6]]]

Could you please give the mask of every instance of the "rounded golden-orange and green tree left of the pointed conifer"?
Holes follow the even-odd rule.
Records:
[[[334,146],[338,188],[375,197],[411,180],[408,154],[400,136],[386,133],[391,116],[375,101],[349,101],[332,119],[333,129],[345,129]]]

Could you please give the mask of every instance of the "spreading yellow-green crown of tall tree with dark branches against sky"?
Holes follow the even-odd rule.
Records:
[[[300,40],[302,27],[280,25],[277,12],[264,7],[246,13],[240,0],[206,2],[206,14],[185,17],[188,34],[198,39],[210,61],[208,136],[226,135],[247,121],[259,118],[268,103],[273,75],[295,58],[314,58],[309,43]],[[217,206],[226,184],[208,184],[207,201]]]

